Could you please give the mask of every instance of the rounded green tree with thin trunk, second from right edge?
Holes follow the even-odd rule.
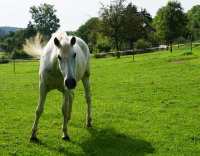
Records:
[[[169,1],[167,6],[160,8],[154,19],[157,36],[170,44],[171,52],[173,41],[186,34],[186,25],[187,16],[177,1]]]

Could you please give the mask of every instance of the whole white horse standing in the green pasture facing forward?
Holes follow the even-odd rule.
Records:
[[[79,80],[83,82],[87,103],[86,126],[91,127],[90,53],[87,44],[78,37],[68,36],[65,32],[56,32],[44,48],[41,45],[40,35],[27,40],[24,51],[32,56],[40,56],[40,95],[30,140],[38,141],[36,133],[39,119],[44,110],[46,95],[52,89],[63,93],[63,139],[70,140],[67,123],[71,117],[74,89]]]

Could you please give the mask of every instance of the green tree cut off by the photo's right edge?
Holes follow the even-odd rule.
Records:
[[[193,6],[187,12],[188,16],[188,29],[191,32],[193,39],[200,39],[200,5]]]

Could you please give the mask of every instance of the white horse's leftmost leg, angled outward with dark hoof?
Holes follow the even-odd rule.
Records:
[[[40,91],[40,95],[39,95],[38,106],[37,106],[36,114],[35,114],[35,121],[33,123],[32,135],[31,135],[31,138],[30,138],[31,141],[37,141],[38,140],[37,139],[37,128],[38,128],[39,119],[40,119],[42,112],[44,110],[44,103],[45,103],[45,99],[46,99],[46,95],[47,95],[47,90],[46,90],[46,87],[43,83],[40,83],[39,91]]]

